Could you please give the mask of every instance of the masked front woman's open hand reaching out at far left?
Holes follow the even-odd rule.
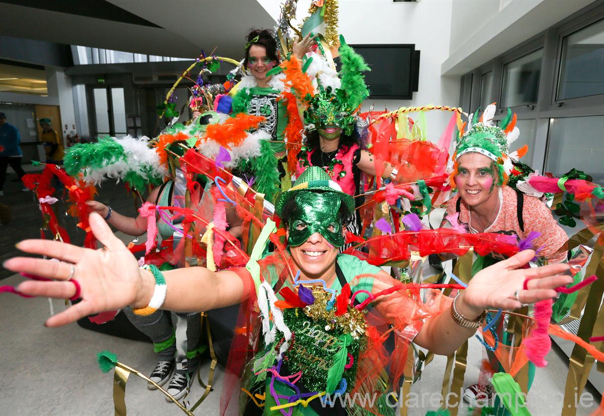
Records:
[[[19,242],[17,248],[60,261],[15,257],[4,262],[8,270],[55,279],[25,281],[17,287],[18,291],[30,296],[58,299],[69,299],[76,294],[76,285],[68,281],[71,265],[74,265],[72,279],[80,284],[82,301],[48,318],[47,327],[60,327],[91,314],[127,305],[144,307],[149,302],[150,294],[146,294],[149,285],[141,277],[137,259],[98,213],[91,213],[89,221],[92,233],[104,245],[103,249],[91,250],[59,241],[28,239]],[[150,286],[152,292],[153,284]]]

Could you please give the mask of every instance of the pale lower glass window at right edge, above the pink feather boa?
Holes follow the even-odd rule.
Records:
[[[562,175],[576,167],[604,185],[604,115],[551,119],[545,172]]]

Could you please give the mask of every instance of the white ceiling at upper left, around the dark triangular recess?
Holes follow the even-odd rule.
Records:
[[[0,2],[0,34],[160,56],[240,59],[250,28],[273,27],[257,0],[108,0],[160,28]],[[8,18],[7,18],[8,16]]]

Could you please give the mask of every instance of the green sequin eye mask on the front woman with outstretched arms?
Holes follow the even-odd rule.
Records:
[[[301,191],[294,201],[294,210],[288,222],[289,245],[301,245],[316,232],[334,247],[344,245],[342,218],[339,215],[341,198],[337,193]]]

